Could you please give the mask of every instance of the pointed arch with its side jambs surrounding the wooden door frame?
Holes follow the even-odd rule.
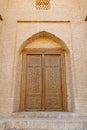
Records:
[[[64,102],[65,102],[65,105],[66,105],[66,110],[69,109],[69,111],[71,111],[71,109],[72,109],[72,98],[71,98],[72,92],[70,90],[71,79],[68,78],[68,77],[70,77],[70,70],[69,70],[70,69],[70,66],[69,66],[69,64],[70,64],[70,60],[69,59],[70,58],[69,58],[69,53],[68,53],[69,50],[68,50],[68,48],[66,46],[66,43],[63,40],[61,40],[56,35],[54,35],[54,34],[52,34],[50,32],[47,32],[47,31],[41,31],[41,32],[38,32],[38,33],[32,35],[27,40],[25,40],[22,43],[22,45],[20,46],[20,48],[19,48],[18,59],[17,59],[18,63],[16,65],[16,67],[17,67],[17,73],[18,73],[16,75],[16,79],[17,79],[18,82],[16,82],[16,86],[15,86],[15,92],[16,92],[16,95],[18,95],[18,96],[15,97],[15,99],[17,100],[17,103],[15,105],[15,109],[16,109],[16,111],[22,111],[22,109],[20,109],[20,106],[23,105],[23,100],[21,100],[21,97],[23,97],[23,93],[24,93],[24,91],[22,91],[22,90],[24,90],[23,89],[24,85],[23,85],[22,81],[24,82],[24,77],[23,76],[24,76],[24,73],[25,73],[25,71],[23,69],[23,66],[24,66],[24,63],[23,63],[23,54],[25,52],[23,50],[26,50],[27,47],[30,48],[29,44],[32,44],[34,41],[37,44],[36,40],[39,41],[40,40],[39,38],[42,38],[42,39],[48,38],[49,41],[50,40],[54,41],[53,44],[56,42],[58,45],[61,46],[61,49],[64,50],[64,51],[58,50],[58,48],[57,48],[57,51],[62,51],[64,53],[63,67],[61,67],[61,68],[62,68],[62,70],[64,70],[64,72],[63,72],[64,73],[63,74],[63,80],[64,80],[64,82],[63,83],[64,83],[64,86],[66,84],[66,87],[64,89],[66,91],[65,92],[65,96],[66,95],[68,96],[68,98],[66,97],[66,102],[65,102],[65,98],[64,98]],[[41,49],[41,48],[39,48],[39,49]],[[30,49],[30,50],[32,50],[32,49]],[[16,88],[18,86],[18,84],[19,84],[19,91],[17,91],[17,88]]]

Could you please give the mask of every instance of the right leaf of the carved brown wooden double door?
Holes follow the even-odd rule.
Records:
[[[45,55],[45,108],[62,109],[61,56]]]

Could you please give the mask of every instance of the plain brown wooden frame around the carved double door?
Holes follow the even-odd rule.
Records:
[[[24,111],[25,93],[26,93],[26,55],[27,54],[61,54],[61,84],[62,84],[62,102],[63,111],[67,111],[67,88],[66,88],[66,67],[65,67],[65,50],[63,49],[24,49],[22,51],[22,76],[20,87],[20,108]]]

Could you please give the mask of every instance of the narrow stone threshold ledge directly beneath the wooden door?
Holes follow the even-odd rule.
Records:
[[[11,117],[14,118],[82,118],[81,115],[73,112],[56,112],[56,111],[28,111],[14,112]]]

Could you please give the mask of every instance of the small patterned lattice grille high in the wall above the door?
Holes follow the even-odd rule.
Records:
[[[38,10],[50,9],[50,0],[36,0],[36,9]]]

